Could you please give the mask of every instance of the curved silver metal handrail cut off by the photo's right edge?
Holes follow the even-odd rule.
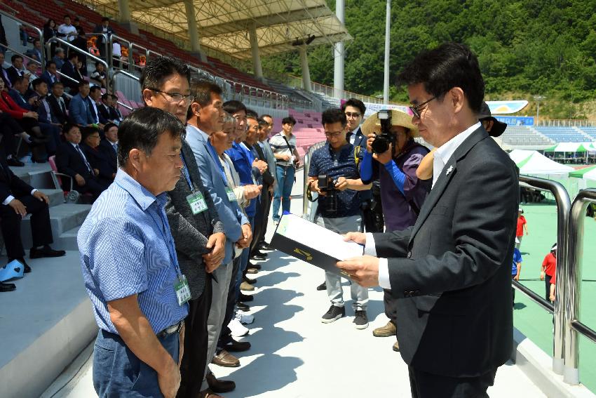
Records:
[[[579,339],[578,333],[596,342],[596,332],[578,320],[581,298],[581,268],[583,263],[583,222],[588,204],[596,202],[596,189],[581,190],[571,206],[569,218],[569,270],[567,278],[567,305],[565,318],[565,371],[563,380],[571,385],[579,384]],[[557,264],[558,266],[558,264]],[[559,270],[557,270],[557,291],[559,290]]]

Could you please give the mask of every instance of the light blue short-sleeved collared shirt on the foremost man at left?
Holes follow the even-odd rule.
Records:
[[[165,193],[154,196],[118,169],[81,225],[81,270],[100,329],[118,333],[107,302],[134,294],[155,333],[187,316],[188,305],[178,305],[174,290],[181,273],[166,201]]]

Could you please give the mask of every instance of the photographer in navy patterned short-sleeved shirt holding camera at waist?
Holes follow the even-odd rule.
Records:
[[[355,163],[354,147],[346,141],[346,114],[339,109],[323,112],[323,128],[327,143],[313,152],[309,170],[309,190],[318,193],[318,208],[315,223],[327,230],[344,234],[351,230],[360,230],[360,198],[358,191],[369,190],[370,184],[363,184]],[[331,307],[323,314],[321,321],[328,324],[344,317],[344,298],[341,290],[341,277],[325,272],[327,296]],[[355,311],[356,329],[366,329],[368,318],[366,305],[368,290],[352,283],[351,296]]]

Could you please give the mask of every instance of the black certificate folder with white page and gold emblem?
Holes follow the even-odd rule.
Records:
[[[326,230],[294,214],[284,214],[273,233],[271,247],[316,265],[325,271],[347,277],[335,264],[346,258],[362,256],[364,247],[346,242],[341,234]]]

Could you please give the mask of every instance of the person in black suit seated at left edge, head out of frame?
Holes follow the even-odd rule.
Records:
[[[31,268],[25,263],[25,250],[22,247],[20,225],[25,215],[31,214],[31,233],[33,247],[29,251],[29,258],[60,257],[65,251],[53,250],[50,244],[52,226],[50,225],[50,199],[43,192],[25,183],[13,174],[6,163],[6,158],[0,157],[0,226],[6,246],[8,263],[18,260],[25,266],[25,272]]]

